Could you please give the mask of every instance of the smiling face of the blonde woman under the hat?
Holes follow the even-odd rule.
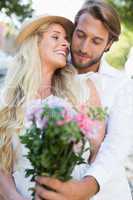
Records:
[[[66,65],[69,42],[66,31],[60,24],[51,24],[39,41],[42,66],[56,70]]]

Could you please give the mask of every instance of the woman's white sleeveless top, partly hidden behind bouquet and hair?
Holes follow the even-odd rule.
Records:
[[[75,83],[77,90],[74,90],[74,95],[78,97],[78,103],[83,104],[89,100],[89,88],[87,86],[87,82],[85,79],[79,78],[79,76],[75,76]],[[73,84],[71,85],[73,87]],[[50,96],[51,97],[51,96]],[[89,143],[86,142],[86,147],[88,147]],[[31,192],[28,190],[30,187],[34,187],[34,183],[30,181],[30,178],[25,178],[25,169],[30,168],[30,162],[23,156],[27,154],[27,149],[24,145],[20,144],[19,139],[15,136],[13,137],[13,147],[14,149],[18,149],[19,147],[19,155],[17,162],[14,163],[14,171],[13,177],[16,184],[16,188],[23,197],[31,199]],[[90,152],[85,152],[83,157],[87,160],[89,158]],[[82,170],[78,170],[82,168]],[[74,172],[72,173],[74,179],[81,179],[82,174],[84,172],[84,166],[75,167]],[[82,172],[82,173],[81,173]]]

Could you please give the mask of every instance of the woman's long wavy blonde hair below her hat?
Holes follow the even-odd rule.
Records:
[[[38,50],[40,31],[30,36],[18,49],[8,70],[0,105],[0,168],[11,173],[13,170],[14,150],[12,136],[24,127],[24,107],[35,98],[42,82],[41,60]],[[53,77],[53,93],[67,97],[72,104],[76,103],[70,83],[76,74],[71,65],[58,69]],[[63,92],[62,92],[63,91]]]

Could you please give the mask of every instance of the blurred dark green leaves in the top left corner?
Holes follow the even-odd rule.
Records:
[[[27,0],[27,3],[23,0],[0,0],[0,11],[10,17],[15,14],[18,20],[23,21],[32,16],[32,0]]]

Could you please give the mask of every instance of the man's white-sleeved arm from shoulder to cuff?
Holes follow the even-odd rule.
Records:
[[[121,88],[108,119],[107,135],[85,174],[94,176],[100,188],[124,165],[133,141],[133,80]],[[111,170],[110,170],[111,169]]]

